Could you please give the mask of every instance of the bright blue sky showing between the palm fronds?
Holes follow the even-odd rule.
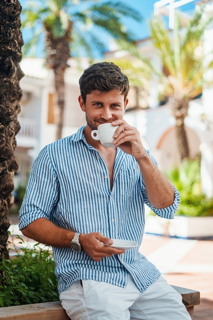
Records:
[[[19,0],[20,4],[22,7],[24,7],[24,3],[28,0]],[[104,1],[104,0],[100,0]],[[151,19],[153,15],[153,10],[154,10],[154,3],[156,0],[120,0],[121,2],[126,3],[127,5],[131,6],[132,8],[138,10],[138,12],[142,16],[142,21],[137,22],[134,19],[131,18],[124,18],[123,22],[128,30],[130,30],[134,35],[136,40],[142,40],[146,37],[149,37],[150,35],[150,29],[149,29],[149,19]],[[179,1],[179,0],[175,0]],[[195,3],[196,1],[192,1],[191,3],[181,6],[180,10],[187,12],[187,13],[192,13],[193,9],[195,8]],[[25,40],[28,37],[28,33],[23,32],[22,33],[23,40]],[[107,50],[109,50],[109,44],[107,44]],[[41,46],[38,46],[38,50],[36,53],[36,56],[41,57],[43,56]]]

